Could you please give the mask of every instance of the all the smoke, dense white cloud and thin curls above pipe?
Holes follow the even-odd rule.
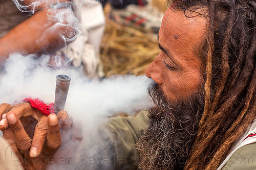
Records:
[[[22,1],[13,0],[22,12],[33,14],[41,6],[46,8],[51,27],[46,25],[48,28],[36,42],[39,46],[44,44],[46,36],[53,34],[54,30],[60,27],[72,28],[73,30],[71,32],[69,29],[64,30],[65,34],[63,35],[65,36],[62,38],[65,41],[65,46],[67,46],[67,42],[73,41],[81,34],[72,3],[55,1],[56,3],[53,4],[52,0],[40,0],[29,6],[23,6]],[[86,1],[80,2],[86,3]],[[76,8],[79,9],[80,7],[77,6]],[[68,58],[61,62],[60,56],[55,56],[56,65],[59,68],[65,68],[57,70],[48,67],[49,60],[49,55],[38,57],[35,54],[28,56],[11,54],[6,60],[5,71],[0,73],[0,103],[22,102],[29,96],[39,98],[46,103],[52,103],[54,102],[56,76],[70,76],[71,83],[65,110],[74,120],[74,129],[62,133],[62,140],[68,140],[62,143],[50,168],[111,168],[112,162],[110,160],[112,157],[108,155],[112,155],[112,151],[104,150],[104,148],[113,144],[109,139],[113,139],[114,136],[108,130],[102,130],[101,125],[106,124],[108,118],[116,115],[116,113],[135,115],[142,109],[152,107],[153,104],[146,92],[147,87],[154,82],[145,76],[131,75],[117,75],[101,81],[89,79],[82,74],[81,68],[72,68],[71,66],[67,68],[71,63]],[[80,132],[81,134],[79,134]],[[79,135],[82,135],[81,141],[77,137]],[[120,132],[120,135],[125,134]],[[115,143],[120,142],[118,138],[114,140],[116,140]],[[102,158],[107,158],[106,164],[102,163],[104,161]],[[116,158],[114,157],[114,159]],[[93,161],[90,162],[90,160]]]

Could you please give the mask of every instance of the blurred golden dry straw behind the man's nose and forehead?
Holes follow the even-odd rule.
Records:
[[[164,0],[158,2],[163,8]],[[159,3],[161,1],[161,3]],[[101,61],[106,77],[111,75],[142,75],[158,55],[156,35],[124,27],[108,18],[110,7],[105,8],[106,28],[101,43]]]

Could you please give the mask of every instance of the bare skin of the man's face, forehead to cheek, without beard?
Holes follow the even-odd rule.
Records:
[[[205,30],[206,19],[201,16],[186,17],[184,11],[166,11],[159,31],[161,51],[145,74],[160,85],[168,101],[184,99],[202,87],[199,52]]]

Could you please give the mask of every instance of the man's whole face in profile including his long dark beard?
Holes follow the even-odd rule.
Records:
[[[205,27],[205,19],[184,11],[164,15],[161,52],[146,70],[157,83],[148,90],[156,107],[148,110],[148,126],[136,143],[141,169],[184,168],[204,111],[199,51]]]

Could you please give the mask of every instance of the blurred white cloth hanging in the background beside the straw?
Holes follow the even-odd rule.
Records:
[[[84,66],[88,77],[102,77],[103,67],[100,63],[99,51],[101,38],[105,29],[105,17],[102,5],[93,0],[76,0],[77,18],[81,22],[81,35],[62,48],[75,67]],[[65,53],[64,53],[65,54]]]

